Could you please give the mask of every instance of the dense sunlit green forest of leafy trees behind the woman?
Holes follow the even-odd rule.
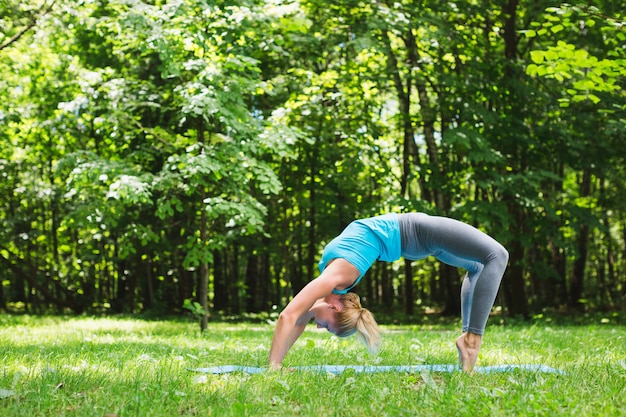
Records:
[[[624,10],[0,0],[0,311],[275,312],[350,221],[408,211],[507,247],[502,314],[621,310]],[[461,274],[359,292],[458,314]]]

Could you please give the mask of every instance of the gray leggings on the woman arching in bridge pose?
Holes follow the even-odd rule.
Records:
[[[447,217],[425,213],[398,215],[402,256],[434,256],[467,274],[461,285],[463,331],[482,335],[509,260],[507,250],[480,230]]]

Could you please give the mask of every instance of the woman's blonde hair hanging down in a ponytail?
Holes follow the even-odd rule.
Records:
[[[374,315],[361,307],[361,299],[353,292],[339,297],[343,308],[336,313],[337,336],[346,337],[356,332],[357,337],[365,343],[370,353],[378,353],[380,349],[380,331]]]

